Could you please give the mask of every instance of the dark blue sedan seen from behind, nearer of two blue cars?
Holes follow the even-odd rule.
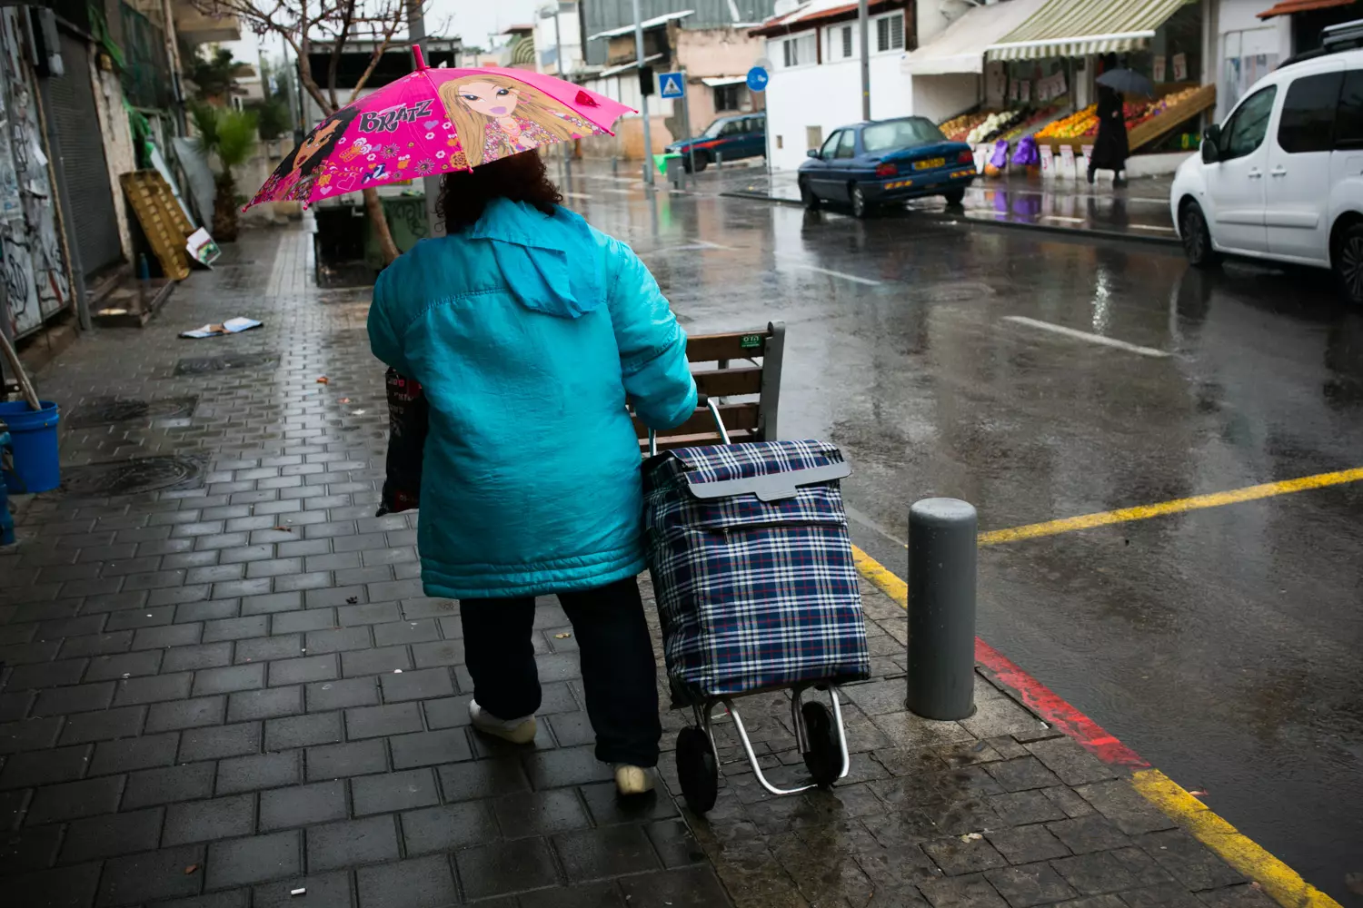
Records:
[[[906,199],[942,196],[960,204],[975,180],[975,152],[949,142],[931,120],[902,117],[836,129],[800,165],[800,200],[816,210],[825,201],[852,206],[866,218]]]

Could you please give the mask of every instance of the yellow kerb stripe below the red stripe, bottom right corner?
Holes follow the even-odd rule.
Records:
[[[1159,769],[1142,769],[1131,780],[1135,790],[1201,841],[1225,863],[1254,879],[1284,908],[1341,908],[1300,874],[1225,822]]]

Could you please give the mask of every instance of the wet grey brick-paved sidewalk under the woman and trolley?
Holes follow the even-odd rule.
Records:
[[[7,904],[1270,908],[983,677],[972,719],[905,713],[906,621],[871,587],[876,679],[845,692],[831,792],[766,796],[721,721],[706,820],[667,790],[619,802],[549,602],[538,739],[472,734],[458,606],[423,596],[416,515],[372,516],[367,294],[316,290],[308,240],[245,236],[146,329],[37,376],[68,490],[25,502],[0,554]],[[239,314],[266,324],[176,338]],[[741,705],[793,780],[784,702]]]

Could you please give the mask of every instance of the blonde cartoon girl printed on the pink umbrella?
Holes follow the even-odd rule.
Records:
[[[488,74],[446,82],[440,101],[470,167],[602,132],[564,103],[508,76]]]

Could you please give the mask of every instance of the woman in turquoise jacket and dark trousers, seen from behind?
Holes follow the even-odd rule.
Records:
[[[459,599],[474,728],[534,739],[534,598],[555,594],[581,649],[596,756],[622,794],[641,794],[662,730],[626,400],[671,429],[696,391],[649,270],[560,201],[536,151],[447,174],[448,236],[379,275],[369,344],[429,400],[421,580]]]

